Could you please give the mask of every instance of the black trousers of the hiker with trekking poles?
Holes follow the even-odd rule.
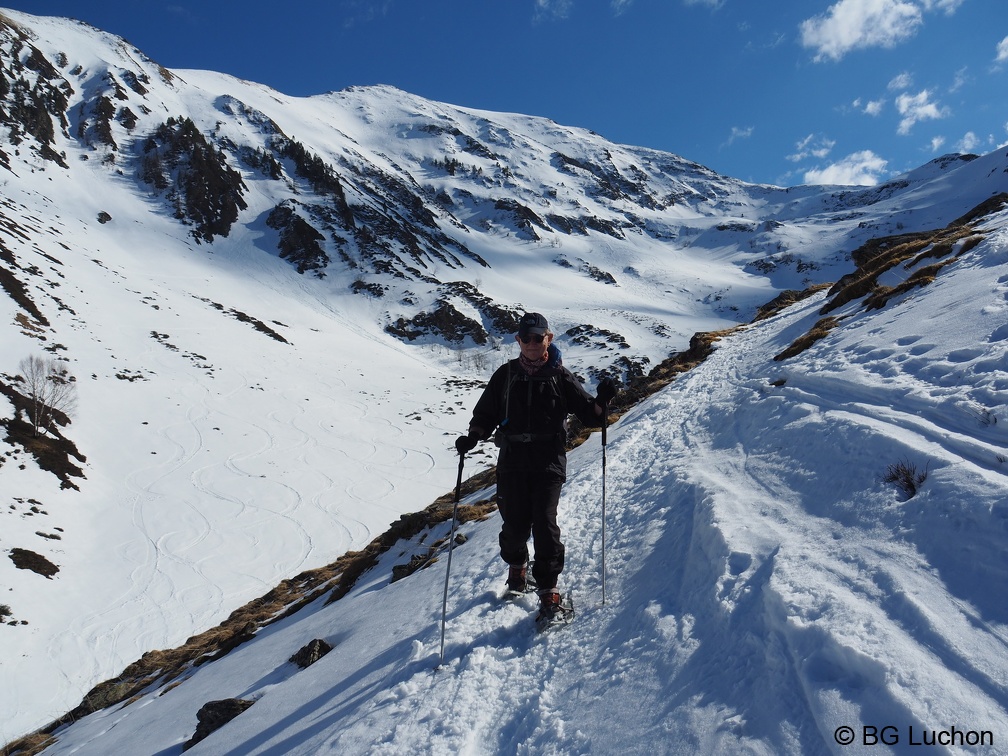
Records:
[[[497,470],[497,509],[501,526],[501,557],[508,564],[528,560],[528,536],[535,547],[532,577],[539,590],[556,588],[563,572],[563,542],[556,524],[556,507],[563,479],[554,472]]]

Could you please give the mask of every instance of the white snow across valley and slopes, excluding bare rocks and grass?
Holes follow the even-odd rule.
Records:
[[[54,21],[37,28],[96,71],[115,47]],[[215,106],[240,96],[320,152],[389,169],[439,149],[396,124],[422,116],[482,129],[513,150],[518,197],[554,186],[557,203],[576,201],[575,179],[549,163],[561,147],[648,170],[678,160],[668,191],[722,201],[644,219],[664,236],[533,244],[491,225],[466,232],[490,268],[438,271],[479,280],[500,301],[546,302],[536,308],[557,333],[610,328],[652,359],[696,331],[747,320],[807,275],[786,264],[754,274],[747,245],[759,234],[733,224],[782,224],[767,244],[830,280],[864,240],[940,228],[1006,190],[1005,158],[991,154],[924,166],[903,194],[860,206],[860,191],[747,186],[541,119],[386,88],[295,99],[177,75],[184,86],[157,91],[164,112],[193,113],[207,131],[221,121],[241,142],[243,122]],[[382,330],[384,304],[350,294],[344,271],[297,275],[270,253],[261,223],[197,245],[134,182],[110,180],[99,160],[80,159],[83,147],[65,146],[71,170],[32,170],[26,154],[4,177],[19,230],[4,226],[0,241],[39,270],[31,293],[53,323],[44,346],[61,345],[78,376],[67,434],[88,459],[81,490],[68,491],[0,442],[0,543],[30,545],[60,568],[46,581],[0,559],[0,603],[28,623],[0,625],[3,741],[450,491],[452,438],[487,363],[511,354],[403,344]],[[258,219],[277,199],[243,178]],[[111,223],[94,221],[102,211]],[[238,697],[255,704],[187,753],[814,754],[867,751],[883,728],[890,750],[957,728],[993,740],[960,751],[1008,753],[1008,215],[982,230],[933,283],[878,310],[844,305],[839,328],[794,358],[773,359],[822,317],[826,293],[725,336],[609,429],[605,479],[599,434],[573,452],[560,512],[562,587],[578,609],[570,627],[538,636],[531,600],[500,601],[496,515],[465,523],[439,664],[446,559],[395,583],[390,574],[420,539],[447,536],[443,523],[393,547],[340,601],[320,598],[180,683],[155,682],[61,728],[45,752],[180,753],[205,703]],[[620,273],[620,286],[553,264],[556,254]],[[7,297],[0,310],[8,324],[19,311]],[[605,354],[560,347],[580,370]],[[40,348],[19,328],[0,330],[5,382]],[[12,414],[6,399],[0,414]],[[491,460],[479,450],[467,473]],[[926,471],[911,498],[884,480],[900,462]],[[288,659],[313,638],[334,650],[298,670]],[[842,727],[853,729],[849,749],[835,741]]]

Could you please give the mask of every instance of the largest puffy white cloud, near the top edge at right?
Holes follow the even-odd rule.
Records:
[[[920,7],[905,0],[840,0],[799,28],[802,45],[816,50],[816,60],[839,60],[854,49],[892,47],[921,22]]]

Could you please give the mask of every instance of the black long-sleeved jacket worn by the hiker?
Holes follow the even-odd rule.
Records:
[[[494,435],[501,450],[499,471],[549,471],[565,477],[568,415],[588,427],[602,424],[595,397],[558,362],[557,355],[529,375],[519,360],[511,360],[494,372],[476,402],[470,432],[482,438]]]

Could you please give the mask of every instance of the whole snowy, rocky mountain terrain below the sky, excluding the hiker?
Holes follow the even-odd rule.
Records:
[[[0,740],[179,753],[234,699],[194,753],[1008,752],[1004,150],[754,185],[2,10],[0,180]],[[526,309],[590,387],[710,355],[610,431],[606,604],[597,438],[572,454],[560,633],[495,602],[467,494],[435,672],[447,525],[383,534],[454,486]],[[32,428],[39,355],[77,402]],[[311,589],[246,622],[281,584]]]

